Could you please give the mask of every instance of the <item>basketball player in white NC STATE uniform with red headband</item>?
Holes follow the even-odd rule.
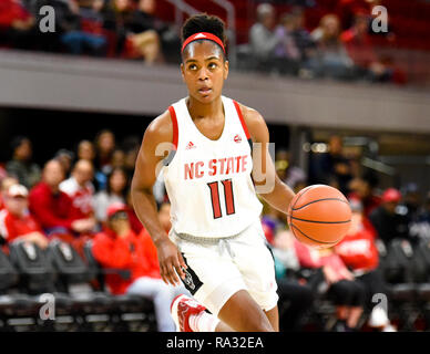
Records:
[[[260,197],[283,212],[294,192],[276,176],[262,115],[222,95],[228,75],[222,20],[194,15],[182,37],[188,96],[144,134],[132,183],[134,208],[156,246],[163,280],[174,285],[180,275],[195,299],[181,295],[172,303],[181,331],[278,331],[274,261],[256,188],[272,178],[273,188]],[[167,158],[157,152],[162,143],[173,146]],[[263,146],[259,162],[253,162],[253,143]],[[172,204],[168,237],[152,195],[162,159]],[[256,168],[266,180],[256,181]]]

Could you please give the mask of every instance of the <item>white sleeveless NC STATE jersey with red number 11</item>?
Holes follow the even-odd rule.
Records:
[[[222,96],[224,129],[212,140],[194,124],[185,100],[168,108],[176,152],[163,174],[172,227],[194,237],[237,235],[259,218],[263,208],[250,177],[250,139],[239,106]]]

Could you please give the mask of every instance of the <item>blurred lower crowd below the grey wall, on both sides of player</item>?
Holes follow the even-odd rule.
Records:
[[[306,323],[315,323],[320,301],[327,300],[335,306],[332,323],[325,320],[319,330],[358,331],[366,319],[370,329],[395,331],[388,311],[371,302],[376,293],[389,296],[389,285],[402,281],[387,277],[381,267],[387,251],[381,250],[399,239],[412,248],[428,243],[430,194],[421,200],[414,185],[380,190],[377,176],[345,154],[340,136],[331,136],[327,145],[327,153],[310,160],[308,174],[291,163],[289,152],[276,153],[277,173],[296,192],[327,184],[348,197],[352,210],[346,238],[331,249],[316,250],[294,238],[285,215],[264,205],[262,222],[276,264],[281,330],[306,330]],[[131,272],[129,279],[106,274],[109,291],[153,299],[158,330],[173,330],[168,305],[186,290],[163,283],[156,249],[133,210],[130,180],[140,139],[131,136],[119,143],[113,132],[103,129],[94,140],[79,142],[75,149],[59,149],[43,166],[32,162],[28,137],[17,136],[11,148],[10,160],[0,168],[3,251],[11,242],[45,249],[60,239],[84,258],[83,246],[92,240],[102,267]],[[154,196],[167,232],[170,204],[161,180]]]

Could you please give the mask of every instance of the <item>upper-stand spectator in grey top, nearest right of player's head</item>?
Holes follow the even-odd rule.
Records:
[[[257,62],[257,69],[270,71],[275,64],[275,49],[280,39],[275,35],[275,9],[269,3],[257,7],[257,22],[249,30],[249,44],[252,55]]]

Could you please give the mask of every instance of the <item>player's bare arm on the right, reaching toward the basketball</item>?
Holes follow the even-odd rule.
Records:
[[[258,195],[274,208],[287,214],[295,192],[276,174],[268,150],[269,132],[263,116],[255,110],[240,105],[248,127],[253,148],[253,179]]]

